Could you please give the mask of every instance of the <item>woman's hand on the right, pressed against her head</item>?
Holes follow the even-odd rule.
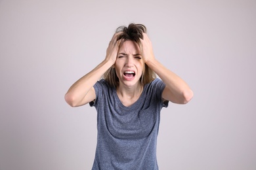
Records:
[[[145,63],[152,61],[154,59],[154,52],[152,47],[152,42],[148,38],[146,33],[143,33],[143,39],[140,39],[142,42],[142,57],[144,58]]]

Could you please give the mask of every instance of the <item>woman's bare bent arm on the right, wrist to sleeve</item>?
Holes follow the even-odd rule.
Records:
[[[168,88],[167,93],[163,94],[163,98],[174,103],[187,103],[193,96],[192,90],[182,78],[164,67],[155,58],[149,59],[146,64],[150,67],[161,80],[166,84]]]

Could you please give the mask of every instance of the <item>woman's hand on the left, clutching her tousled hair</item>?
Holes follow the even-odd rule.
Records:
[[[107,61],[112,61],[112,63],[116,63],[116,58],[117,58],[117,52],[118,52],[118,48],[119,48],[119,44],[121,39],[119,39],[117,41],[118,36],[122,33],[118,32],[115,33],[110,41],[110,43],[108,44],[108,48],[106,50],[106,60]]]

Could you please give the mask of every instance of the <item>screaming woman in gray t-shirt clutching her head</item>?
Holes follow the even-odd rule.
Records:
[[[106,58],[77,80],[65,99],[72,107],[89,103],[97,110],[93,169],[149,170],[158,169],[161,108],[168,101],[188,103],[192,96],[186,82],[154,58],[146,27],[129,24],[117,28]]]

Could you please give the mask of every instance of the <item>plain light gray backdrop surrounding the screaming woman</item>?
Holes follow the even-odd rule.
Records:
[[[256,169],[255,18],[255,0],[0,0],[0,169],[91,169],[96,110],[64,94],[131,22],[194,91],[161,112],[160,169]]]

